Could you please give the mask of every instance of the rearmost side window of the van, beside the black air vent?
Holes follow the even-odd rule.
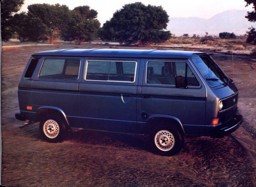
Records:
[[[45,59],[39,79],[78,80],[79,59]]]

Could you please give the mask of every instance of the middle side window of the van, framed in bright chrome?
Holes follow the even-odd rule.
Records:
[[[134,82],[135,61],[88,60],[85,80]]]

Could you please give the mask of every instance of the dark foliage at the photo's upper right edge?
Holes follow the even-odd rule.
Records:
[[[246,2],[245,7],[249,6],[250,4],[253,5],[252,8],[254,8],[254,11],[247,12],[247,16],[245,16],[248,21],[255,23],[256,22],[256,0],[244,0]],[[247,43],[253,43],[256,44],[256,31],[254,27],[250,27],[250,31],[247,31],[248,38],[246,40]]]

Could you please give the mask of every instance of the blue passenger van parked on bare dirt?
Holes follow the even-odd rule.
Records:
[[[70,128],[148,134],[170,156],[183,137],[222,138],[242,123],[238,90],[207,53],[65,49],[34,53],[18,89],[18,120],[48,142]]]

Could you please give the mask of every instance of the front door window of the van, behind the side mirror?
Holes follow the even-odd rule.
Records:
[[[149,61],[147,64],[147,84],[175,85],[176,76],[182,76],[188,86],[200,85],[185,62]]]

